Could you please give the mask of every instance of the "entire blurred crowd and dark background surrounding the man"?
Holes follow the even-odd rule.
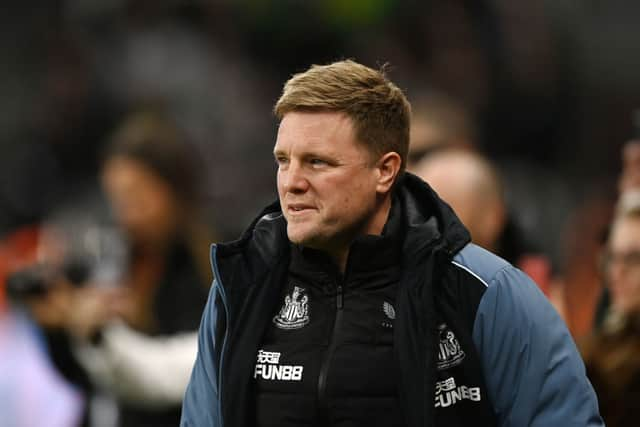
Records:
[[[408,170],[538,283],[608,425],[637,419],[640,4],[32,3],[0,17],[3,425],[178,424],[209,245],[276,197],[282,83],[340,58],[389,63]]]

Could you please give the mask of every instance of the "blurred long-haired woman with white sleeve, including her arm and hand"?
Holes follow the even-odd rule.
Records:
[[[143,112],[115,132],[105,156],[102,182],[129,262],[116,289],[79,291],[69,323],[92,379],[118,398],[122,427],[177,425],[195,360],[212,234],[199,217],[190,154],[165,116]]]

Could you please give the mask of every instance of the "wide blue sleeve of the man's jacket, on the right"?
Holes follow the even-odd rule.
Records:
[[[507,266],[488,283],[473,340],[499,426],[604,425],[569,331],[520,270]]]

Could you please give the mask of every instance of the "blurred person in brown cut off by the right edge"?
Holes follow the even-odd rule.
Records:
[[[640,199],[618,206],[602,272],[609,307],[581,351],[607,425],[630,427],[640,418]]]

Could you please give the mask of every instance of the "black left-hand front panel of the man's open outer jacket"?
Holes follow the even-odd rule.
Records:
[[[220,349],[226,354],[220,356],[222,420],[230,426],[252,426],[251,370],[289,264],[286,223],[278,214],[278,203],[265,208],[240,240],[219,245],[217,254],[216,278],[225,289],[229,319],[225,348]]]

